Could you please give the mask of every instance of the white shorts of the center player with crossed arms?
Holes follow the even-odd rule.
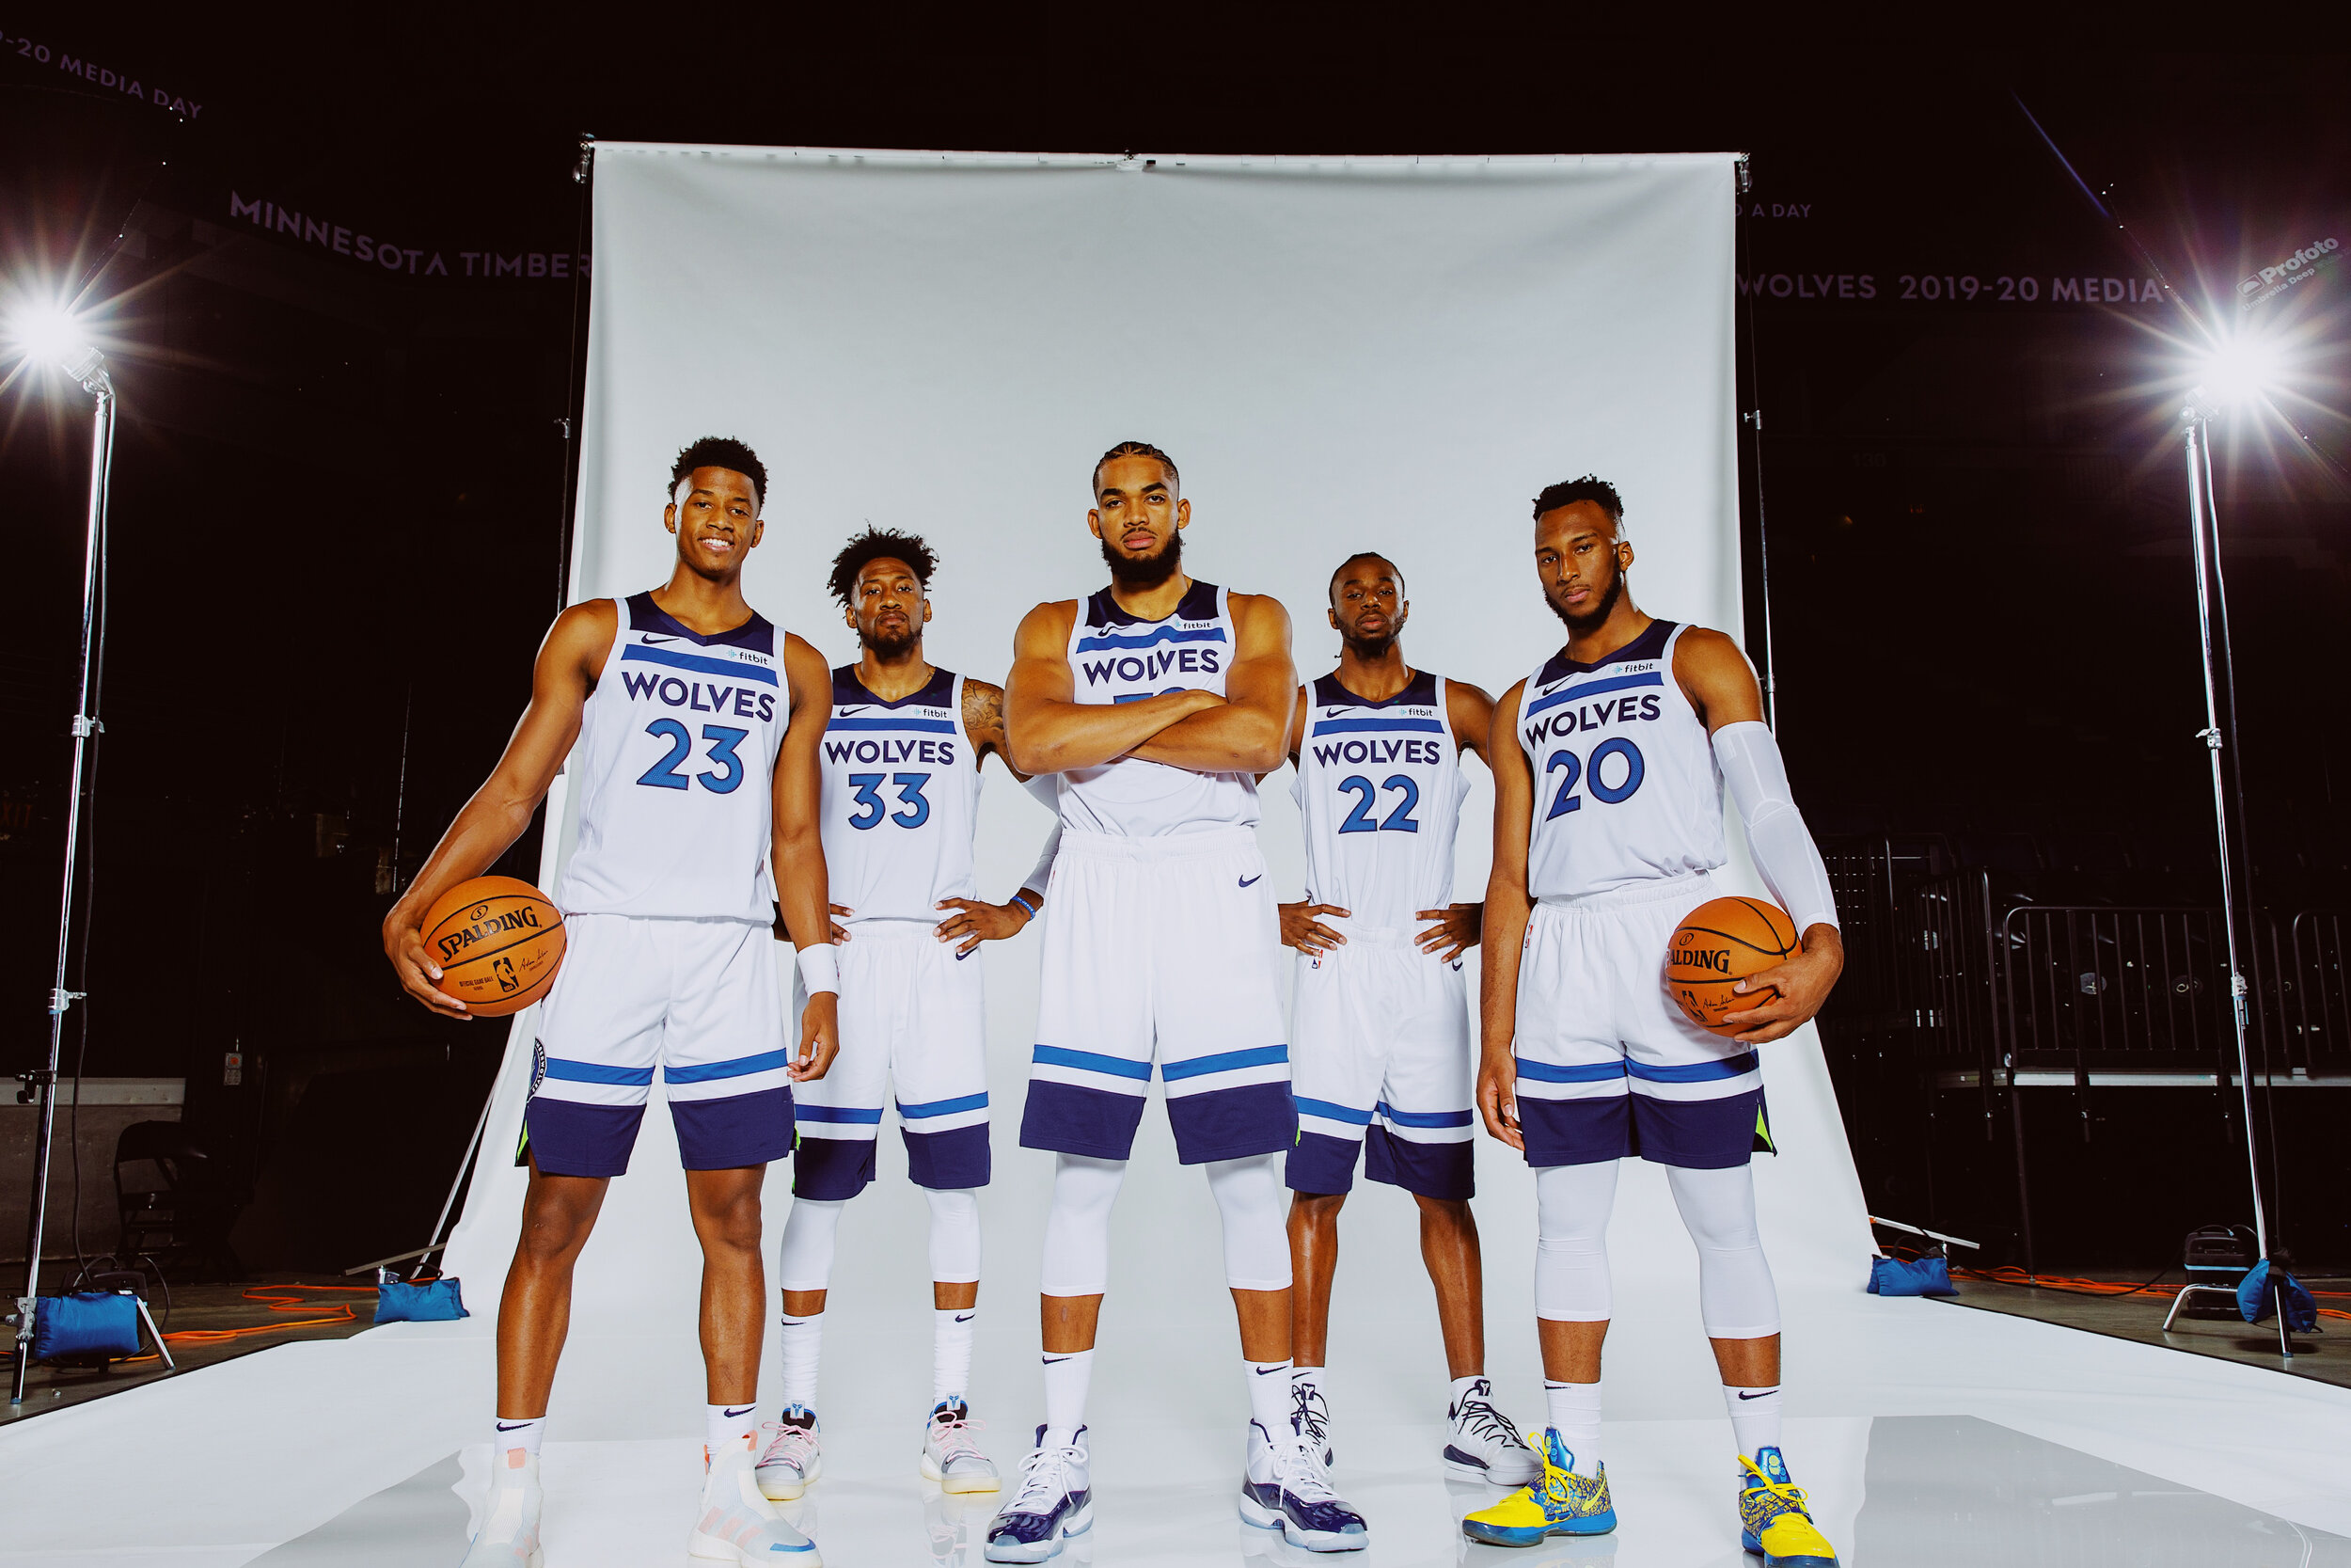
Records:
[[[1279,952],[1253,830],[1065,827],[1020,1145],[1126,1159],[1157,1060],[1183,1164],[1286,1150],[1298,1117]]]

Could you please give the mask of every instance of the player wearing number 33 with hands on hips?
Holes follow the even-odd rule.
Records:
[[[1037,917],[1053,846],[1011,900],[973,898],[980,762],[1004,757],[1004,689],[924,658],[936,569],[922,538],[882,529],[832,557],[832,597],[860,649],[858,663],[832,672],[823,745],[825,875],[832,896],[849,900],[832,905],[842,1056],[795,1107],[783,1420],[759,1455],[769,1497],[799,1497],[823,1465],[816,1373],[832,1241],[842,1208],[875,1178],[884,1086],[896,1091],[907,1173],[931,1206],[933,1403],[922,1474],[950,1493],[997,1490],[964,1396],[980,1300],[978,1190],[987,1185],[987,1018],[980,966],[966,959]]]

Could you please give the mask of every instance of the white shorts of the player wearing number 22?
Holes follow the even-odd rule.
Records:
[[[1300,952],[1291,999],[1293,1192],[1349,1192],[1364,1175],[1432,1199],[1472,1178],[1469,994],[1460,959],[1413,945],[1415,929],[1321,922],[1347,938]],[[1422,926],[1425,929],[1425,926]]]

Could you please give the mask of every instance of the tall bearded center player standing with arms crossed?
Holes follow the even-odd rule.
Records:
[[[987,1561],[1039,1563],[1093,1526],[1086,1382],[1110,1276],[1110,1206],[1152,1060],[1176,1157],[1208,1166],[1241,1319],[1251,1429],[1239,1512],[1293,1544],[1366,1544],[1291,1406],[1291,1253],[1279,1152],[1295,1135],[1274,992],[1279,922],[1258,853],[1258,776],[1288,755],[1291,623],[1265,595],[1183,571],[1176,461],[1121,442],[1086,527],[1110,585],[1020,621],[1004,693],[1011,762],[1060,773],[1037,1051],[1020,1143],[1053,1150],[1044,1232],[1044,1425]]]

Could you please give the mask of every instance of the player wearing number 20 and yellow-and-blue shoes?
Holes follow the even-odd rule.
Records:
[[[1829,872],[1789,797],[1763,696],[1740,646],[1653,621],[1627,592],[1625,505],[1596,477],[1535,498],[1535,576],[1568,642],[1493,715],[1495,830],[1479,1110],[1535,1168],[1545,1476],[1462,1530],[1498,1544],[1615,1528],[1601,1465],[1608,1208],[1617,1161],[1665,1166],[1697,1244],[1697,1302],[1740,1450],[1740,1528],[1770,1568],[1822,1568],[1780,1455],[1780,1300],[1749,1154],[1768,1145],[1756,1046],[1803,1025],[1843,969]],[[1716,898],[1723,785],[1803,952],[1751,976],[1733,1039],[1665,994],[1669,936]]]

